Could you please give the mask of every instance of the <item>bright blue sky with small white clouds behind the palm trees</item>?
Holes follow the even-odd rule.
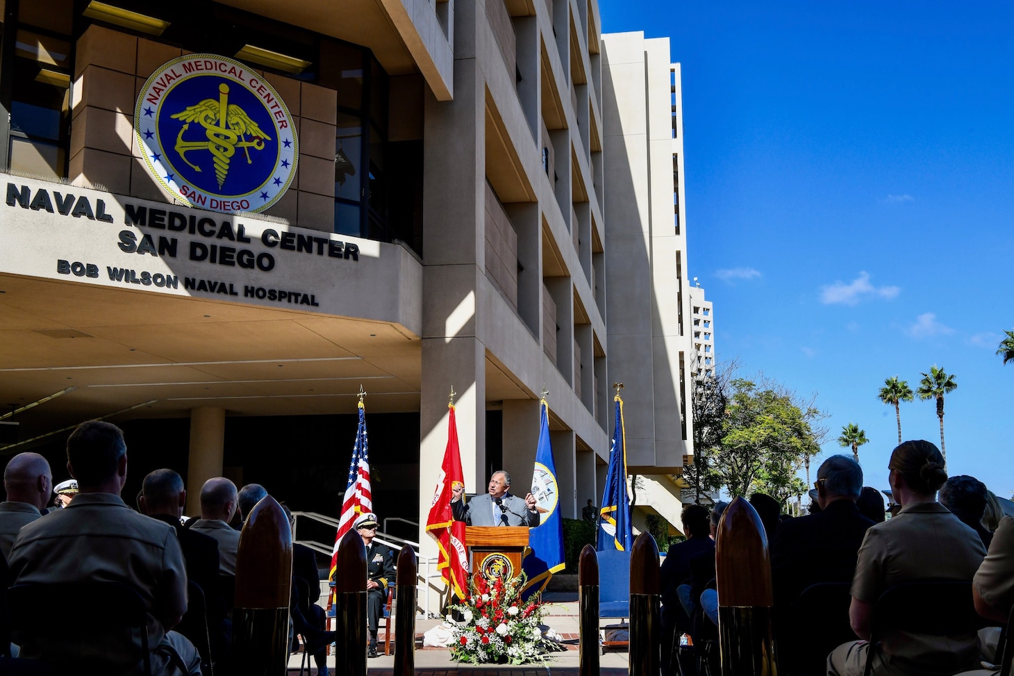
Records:
[[[687,267],[719,361],[817,393],[821,457],[858,423],[878,488],[878,389],[943,366],[949,473],[1010,497],[1014,5],[600,1],[604,32],[668,37],[682,65]],[[901,429],[939,446],[934,403]]]

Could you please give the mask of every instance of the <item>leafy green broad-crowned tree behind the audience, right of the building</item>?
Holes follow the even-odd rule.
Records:
[[[779,501],[805,490],[796,472],[808,456],[820,451],[826,417],[815,397],[801,400],[794,392],[763,377],[730,384],[722,443],[715,472],[733,497],[754,491]]]

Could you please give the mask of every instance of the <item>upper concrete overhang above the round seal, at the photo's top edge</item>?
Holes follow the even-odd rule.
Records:
[[[449,0],[222,0],[231,7],[368,47],[388,75],[422,73],[437,100],[454,97],[454,53],[437,17]]]

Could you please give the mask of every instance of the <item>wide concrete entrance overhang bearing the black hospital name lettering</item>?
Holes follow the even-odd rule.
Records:
[[[7,175],[0,185],[5,194],[15,186],[0,202],[0,415],[60,395],[9,418],[21,423],[21,442],[94,417],[176,417],[201,406],[230,415],[351,413],[360,386],[371,411],[419,410],[422,265],[403,247]],[[94,216],[102,200],[112,221],[60,214],[56,205],[69,205],[70,194],[79,205],[89,198]],[[127,207],[136,214],[142,206],[148,224],[126,223]],[[157,229],[155,208],[212,219],[219,231],[231,221],[237,233],[242,222],[249,242]],[[265,228],[297,242],[314,236],[324,254],[266,247]],[[127,253],[124,232],[154,234],[156,247],[174,235],[176,256]],[[345,251],[358,243],[358,261],[327,255],[339,238]],[[195,242],[271,253],[275,266],[195,262],[187,254]],[[115,280],[111,269],[128,272]],[[156,275],[178,286],[158,288]],[[259,298],[247,288],[292,296]]]

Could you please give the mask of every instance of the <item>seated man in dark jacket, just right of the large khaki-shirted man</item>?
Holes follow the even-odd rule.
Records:
[[[227,650],[229,637],[227,609],[218,581],[218,542],[204,533],[184,528],[179,523],[187,503],[187,490],[183,478],[170,469],[158,469],[144,477],[138,503],[141,514],[168,524],[176,532],[187,562],[187,578],[197,583],[204,592],[208,636],[212,654],[218,659]]]

